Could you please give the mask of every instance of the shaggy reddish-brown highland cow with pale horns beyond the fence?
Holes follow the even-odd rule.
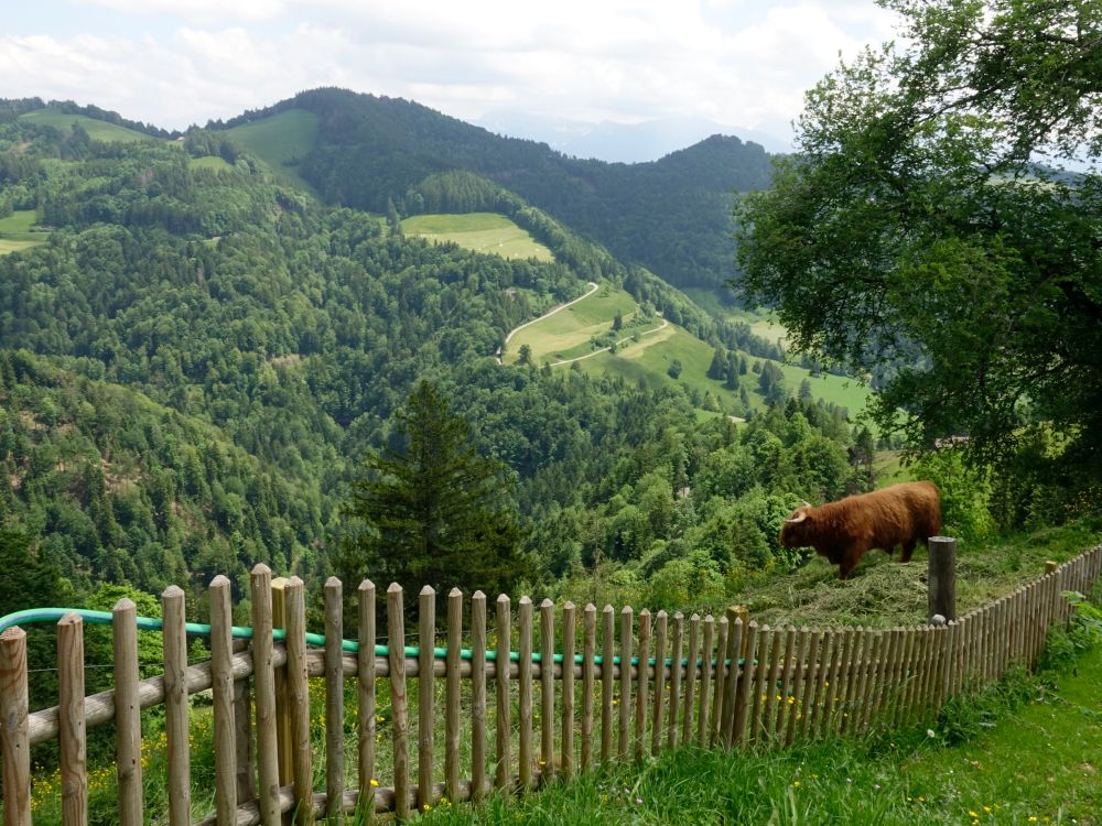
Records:
[[[845,579],[873,547],[889,554],[903,546],[910,562],[915,545],[941,531],[941,497],[933,482],[906,482],[813,508],[804,502],[780,529],[785,547],[813,547]]]

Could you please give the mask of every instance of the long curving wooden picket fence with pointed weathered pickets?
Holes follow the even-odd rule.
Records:
[[[235,646],[241,629],[231,627],[229,582],[216,577],[212,659],[199,665],[186,661],[183,591],[164,593],[164,674],[152,680],[139,681],[134,608],[121,600],[112,618],[114,692],[85,696],[82,620],[63,618],[58,705],[42,711],[28,714],[24,632],[0,634],[4,824],[31,823],[30,747],[51,739],[60,743],[64,822],[86,823],[86,730],[111,720],[119,822],[141,824],[141,709],[152,706],[164,706],[168,820],[188,823],[188,716],[195,714],[188,695],[208,689],[215,811],[206,822],[218,824],[274,826],[283,815],[304,824],[316,816],[406,817],[444,797],[523,791],[682,742],[785,745],[898,726],[934,713],[965,686],[998,678],[1014,663],[1033,665],[1048,629],[1070,617],[1061,591],[1088,589],[1100,568],[1102,546],[948,626],[886,630],[759,627],[737,609],[719,619],[685,619],[629,607],[579,610],[544,601],[537,608],[528,597],[515,606],[506,596],[497,598],[490,626],[482,593],[466,604],[453,590],[441,632],[436,595],[425,588],[418,596],[418,634],[429,644],[420,649],[404,645],[412,629],[401,588],[387,590],[383,607],[364,582],[358,639],[381,638],[385,622],[389,641],[372,649],[342,642],[337,579],[325,585],[324,646],[312,648],[302,582],[292,578],[273,591],[271,573],[258,565],[249,643]],[[273,634],[273,623],[285,626],[285,640]],[[320,748],[310,738],[311,677],[324,681]],[[425,677],[431,691],[421,691]],[[386,717],[377,714],[382,693],[389,694]],[[346,698],[356,706],[355,767],[347,770]],[[380,720],[389,722],[388,738],[377,730]],[[383,745],[386,761],[378,751]],[[324,761],[323,772],[315,772],[315,760]],[[388,774],[380,780],[383,762]],[[322,775],[324,789],[315,789],[313,779]]]

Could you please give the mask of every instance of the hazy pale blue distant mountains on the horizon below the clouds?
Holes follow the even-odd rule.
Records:
[[[777,135],[755,129],[726,127],[705,118],[661,118],[641,123],[588,123],[497,111],[472,122],[510,138],[541,141],[566,155],[594,157],[609,163],[657,161],[713,134],[737,135],[771,153],[792,151],[790,142]]]

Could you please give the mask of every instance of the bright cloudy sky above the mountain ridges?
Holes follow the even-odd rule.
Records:
[[[37,0],[11,3],[0,97],[180,129],[316,86],[495,111],[707,118],[789,135],[839,53],[890,39],[871,0]]]

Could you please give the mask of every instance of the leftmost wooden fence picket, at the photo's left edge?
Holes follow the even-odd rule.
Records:
[[[0,750],[4,826],[31,826],[31,741],[26,713],[26,632],[0,634]]]

